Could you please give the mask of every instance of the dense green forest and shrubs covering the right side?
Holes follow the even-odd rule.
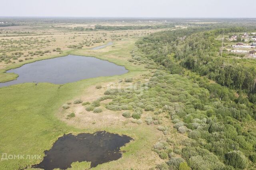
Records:
[[[157,92],[151,99],[166,99],[162,105],[174,128],[188,133],[182,148],[170,150],[168,135],[156,143],[153,150],[166,160],[158,169],[255,167],[256,133],[246,125],[256,119],[256,70],[221,57],[215,39],[248,29],[161,31],[137,41],[133,59],[150,59],[148,68],[158,70],[150,78],[150,90]]]

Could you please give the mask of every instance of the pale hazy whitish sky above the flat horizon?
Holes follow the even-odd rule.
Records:
[[[0,0],[0,16],[256,18],[256,0]]]

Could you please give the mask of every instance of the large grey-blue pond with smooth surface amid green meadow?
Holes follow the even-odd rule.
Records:
[[[86,78],[120,75],[128,70],[124,66],[94,57],[68,55],[24,64],[7,72],[14,72],[19,76],[17,80],[0,83],[0,87],[25,82],[64,84]]]

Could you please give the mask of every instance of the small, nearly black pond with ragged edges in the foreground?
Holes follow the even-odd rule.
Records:
[[[91,162],[91,167],[121,158],[120,147],[132,140],[126,135],[98,131],[80,133],[77,136],[68,134],[60,137],[52,149],[44,151],[45,157],[40,164],[32,168],[53,170],[70,168],[72,162]]]

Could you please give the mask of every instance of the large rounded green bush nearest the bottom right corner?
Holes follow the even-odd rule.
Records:
[[[247,167],[248,163],[246,157],[239,150],[226,153],[225,158],[227,164],[233,166],[234,168],[244,169]]]

